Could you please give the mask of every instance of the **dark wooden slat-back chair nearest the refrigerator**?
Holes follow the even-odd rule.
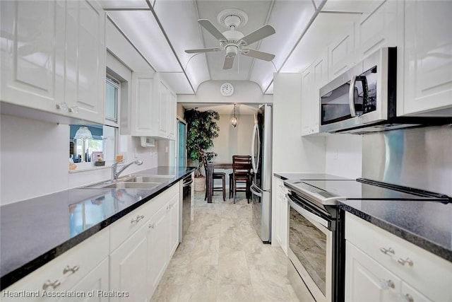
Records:
[[[244,187],[237,184],[244,183]],[[234,196],[236,201],[237,192],[246,192],[246,199],[249,203],[251,197],[251,156],[234,155],[232,156],[232,173],[230,173],[230,198]]]

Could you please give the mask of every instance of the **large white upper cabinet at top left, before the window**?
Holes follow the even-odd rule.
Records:
[[[1,1],[1,28],[1,101],[103,123],[105,13],[95,1]]]

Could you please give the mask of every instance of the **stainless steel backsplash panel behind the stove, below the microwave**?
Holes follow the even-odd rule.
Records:
[[[367,134],[362,175],[452,196],[452,126]]]

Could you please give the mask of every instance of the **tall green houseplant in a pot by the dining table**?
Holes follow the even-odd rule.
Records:
[[[217,156],[217,153],[208,152],[207,150],[213,147],[213,139],[218,137],[220,132],[217,124],[217,121],[220,120],[220,115],[213,110],[199,111],[190,109],[185,111],[184,119],[187,124],[186,149],[188,157],[193,163],[197,163],[195,182],[205,182],[206,179],[201,173],[203,156],[206,156],[208,161]],[[204,187],[202,184],[200,186]]]

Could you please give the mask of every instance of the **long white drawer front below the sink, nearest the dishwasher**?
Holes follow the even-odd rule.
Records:
[[[112,230],[110,233],[110,252],[116,250],[121,243],[143,226],[153,214],[176,194],[179,194],[179,183],[169,187],[141,207],[138,207],[138,209],[134,209],[126,216],[112,223],[110,226]]]

